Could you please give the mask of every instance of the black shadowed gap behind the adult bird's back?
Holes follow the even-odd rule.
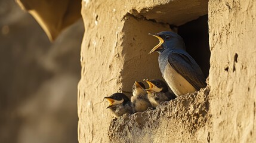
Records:
[[[187,52],[196,60],[205,77],[209,75],[209,33],[208,15],[203,15],[178,27],[178,34],[184,39]]]

